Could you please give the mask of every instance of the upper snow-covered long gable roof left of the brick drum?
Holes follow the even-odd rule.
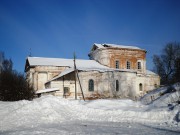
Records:
[[[27,61],[29,66],[62,66],[62,67],[74,67],[73,59],[62,59],[62,58],[44,58],[44,57],[28,57]],[[109,69],[96,62],[95,60],[76,60],[77,68],[85,69]]]

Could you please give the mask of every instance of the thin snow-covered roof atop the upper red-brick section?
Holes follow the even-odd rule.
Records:
[[[136,50],[144,50],[136,46],[127,46],[127,45],[116,45],[116,44],[97,44],[94,43],[94,46],[98,48],[107,48],[107,47],[115,47],[115,48],[126,48],[126,49],[136,49]],[[145,50],[144,50],[145,51]]]

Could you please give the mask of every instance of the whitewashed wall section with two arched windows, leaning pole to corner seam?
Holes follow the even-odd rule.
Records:
[[[135,73],[129,72],[80,72],[80,80],[85,93],[85,97],[100,96],[107,97],[132,97],[136,96]],[[89,80],[94,80],[94,91],[88,88]],[[116,91],[116,80],[119,81],[119,89]]]

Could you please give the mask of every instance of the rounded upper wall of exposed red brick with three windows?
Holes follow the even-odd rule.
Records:
[[[119,61],[120,69],[127,69],[127,61],[131,63],[131,69],[145,73],[146,51],[125,49],[125,48],[101,48],[89,54],[91,59],[98,61],[105,66],[116,68],[115,61]],[[141,69],[138,69],[137,62],[141,62]]]

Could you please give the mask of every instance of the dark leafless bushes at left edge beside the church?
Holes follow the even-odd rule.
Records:
[[[0,64],[0,100],[31,100],[34,96],[33,87],[29,86],[24,74],[13,70],[13,62],[5,59],[4,53],[0,53]]]

